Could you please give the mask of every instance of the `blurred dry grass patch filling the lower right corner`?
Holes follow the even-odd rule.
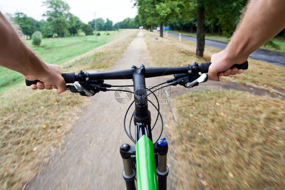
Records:
[[[203,101],[201,101],[203,100]],[[282,189],[285,104],[241,91],[173,100],[181,144],[179,189]]]

